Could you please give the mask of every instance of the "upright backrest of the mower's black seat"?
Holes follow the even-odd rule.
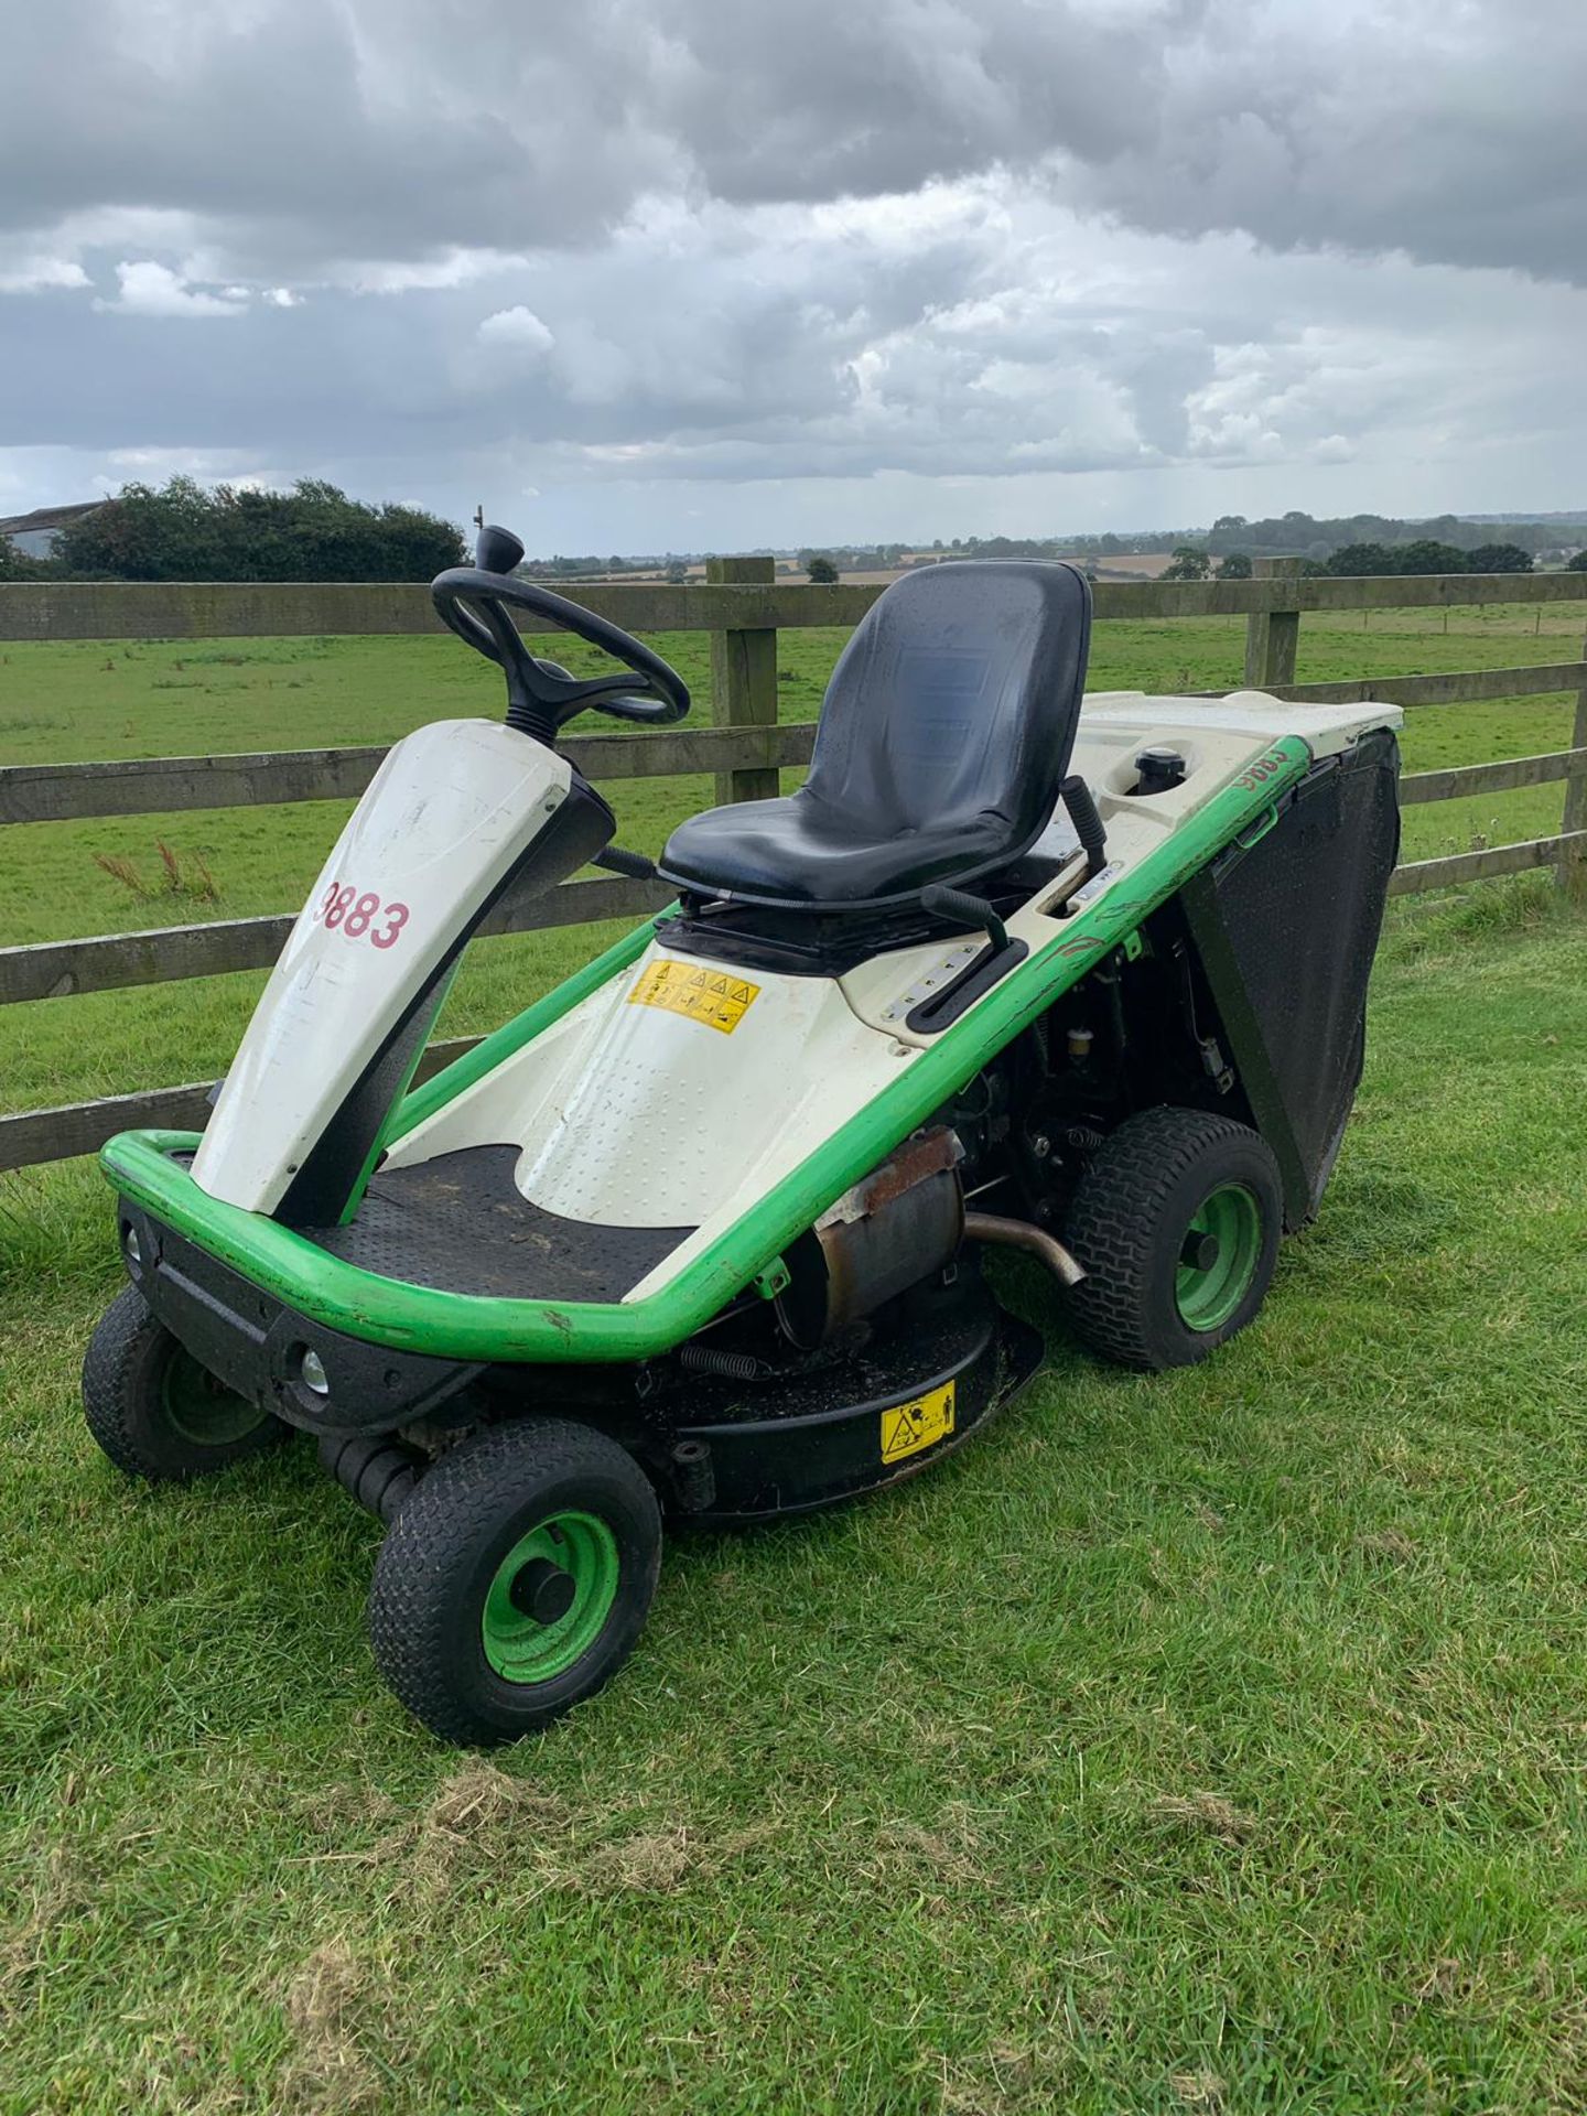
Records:
[[[865,836],[1001,823],[1041,834],[1069,768],[1092,597],[1073,565],[920,567],[868,609],[832,671],[806,798]]]

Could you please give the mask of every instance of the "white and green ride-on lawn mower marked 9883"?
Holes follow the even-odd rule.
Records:
[[[652,865],[557,734],[688,692],[521,557],[487,529],[434,584],[506,722],[391,747],[205,1132],[104,1149],[131,1282],[83,1369],[148,1479],[315,1435],[389,1524],[381,1674],[476,1744],[612,1676],[662,1519],[825,1507],[999,1411],[1043,1339],[988,1248],[1128,1367],[1244,1329],[1344,1136],[1399,844],[1392,707],[1081,711],[1086,580],[1020,561],[897,580],[800,791]],[[675,901],[411,1088],[470,933],[588,861]]]

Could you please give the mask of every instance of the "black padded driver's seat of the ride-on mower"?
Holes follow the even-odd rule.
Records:
[[[692,895],[859,912],[1009,865],[1069,768],[1090,633],[1073,565],[906,573],[832,671],[800,791],[692,817],[660,874]]]

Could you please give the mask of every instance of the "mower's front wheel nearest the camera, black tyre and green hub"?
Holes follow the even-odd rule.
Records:
[[[607,1682],[660,1570],[660,1509],[592,1426],[487,1426],[402,1502],[370,1587],[375,1663],[444,1741],[546,1727]]]

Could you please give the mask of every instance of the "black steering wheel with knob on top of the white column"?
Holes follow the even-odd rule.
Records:
[[[569,603],[565,595],[552,595],[533,580],[512,578],[512,567],[523,559],[523,544],[510,529],[480,529],[474,554],[476,565],[455,565],[438,573],[430,595],[442,622],[506,675],[510,728],[550,743],[559,728],[590,707],[650,728],[669,728],[675,719],[683,719],[690,709],[688,686],[643,639],[624,633],[620,624],[607,624],[592,609]],[[518,637],[508,609],[548,618],[561,631],[624,662],[624,673],[580,681],[557,662],[537,660]]]

